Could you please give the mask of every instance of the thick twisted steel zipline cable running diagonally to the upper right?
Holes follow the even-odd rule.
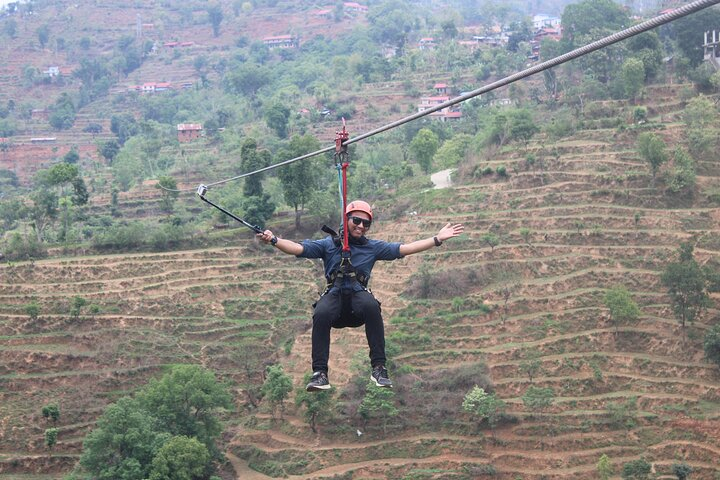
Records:
[[[565,53],[563,55],[560,55],[558,57],[552,58],[550,60],[546,60],[546,61],[539,63],[533,67],[522,70],[518,73],[515,73],[513,75],[505,77],[505,78],[498,80],[496,82],[493,82],[489,85],[472,90],[468,93],[465,93],[464,95],[460,95],[459,97],[452,98],[452,99],[448,100],[447,102],[440,103],[438,105],[428,108],[427,110],[423,110],[422,112],[418,112],[413,115],[409,115],[407,117],[401,118],[400,120],[396,120],[392,123],[388,123],[387,125],[383,125],[382,127],[378,127],[376,129],[371,130],[362,135],[358,135],[357,137],[351,138],[351,139],[343,142],[343,145],[350,145],[350,144],[359,142],[361,140],[365,140],[366,138],[370,138],[379,133],[383,133],[383,132],[386,132],[393,128],[397,128],[408,122],[412,122],[413,120],[417,120],[419,118],[430,115],[431,113],[437,112],[444,108],[451,107],[453,105],[457,105],[458,103],[464,102],[465,100],[469,100],[471,98],[477,97],[484,93],[491,92],[492,90],[496,90],[500,87],[504,87],[511,83],[517,82],[518,80],[522,80],[531,75],[535,75],[536,73],[540,73],[542,71],[549,70],[553,67],[557,67],[558,65],[567,63],[570,60],[575,60],[576,58],[579,58],[579,57],[582,57],[589,53],[595,52],[597,50],[600,50],[601,48],[608,47],[614,43],[618,43],[622,40],[626,40],[626,39],[633,37],[635,35],[638,35],[640,33],[647,32],[648,30],[652,30],[653,28],[659,27],[661,25],[665,25],[666,23],[670,23],[674,20],[685,17],[685,16],[690,15],[695,12],[699,12],[700,10],[711,7],[713,5],[717,5],[719,3],[720,3],[720,0],[697,0],[695,2],[688,3],[687,5],[678,7],[668,13],[665,13],[665,14],[659,15],[655,18],[651,18],[650,20],[646,20],[644,22],[638,23],[637,25],[634,25],[630,28],[621,30],[612,35],[601,38],[600,40],[596,40],[596,41],[589,43],[583,47],[576,48],[575,50],[572,50],[572,51]],[[335,146],[323,148],[321,150],[317,150],[317,151],[311,152],[311,153],[306,153],[305,155],[291,158],[290,160],[285,160],[283,162],[276,163],[274,165],[269,165],[267,167],[263,167],[263,168],[254,170],[252,172],[243,173],[241,175],[237,175],[232,178],[227,178],[225,180],[219,180],[217,182],[208,183],[205,186],[212,187],[212,186],[216,186],[216,185],[221,185],[223,183],[232,182],[234,180],[239,180],[241,178],[249,177],[251,175],[256,175],[258,173],[266,172],[268,170],[272,170],[272,169],[275,169],[278,167],[289,165],[291,163],[294,163],[294,162],[297,162],[300,160],[305,160],[307,158],[314,157],[317,155],[322,155],[323,153],[332,152],[334,150],[335,150]],[[162,186],[160,186],[160,188],[163,188],[164,190],[168,190],[168,191],[173,191],[173,192],[194,191],[194,189],[192,189],[192,190],[190,190],[190,189],[188,189],[188,190],[168,189],[168,188],[165,188]]]

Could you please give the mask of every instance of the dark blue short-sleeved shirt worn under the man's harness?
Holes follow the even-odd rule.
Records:
[[[325,267],[325,278],[330,278],[340,266],[342,245],[336,245],[332,237],[320,240],[303,240],[303,251],[298,258],[321,258]],[[384,242],[382,240],[368,240],[364,245],[350,243],[350,262],[358,274],[367,277],[375,262],[378,260],[397,260],[400,255],[400,242]],[[355,283],[354,290],[362,290],[362,286]]]

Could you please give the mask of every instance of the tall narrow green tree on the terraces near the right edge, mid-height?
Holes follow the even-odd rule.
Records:
[[[661,277],[670,294],[675,318],[683,328],[686,322],[695,321],[711,305],[708,282],[693,258],[693,250],[689,243],[680,244],[679,261],[668,263]]]

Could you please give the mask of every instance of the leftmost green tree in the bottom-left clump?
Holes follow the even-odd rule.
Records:
[[[137,400],[123,397],[105,409],[85,437],[80,465],[101,480],[147,478],[152,459],[169,438]]]

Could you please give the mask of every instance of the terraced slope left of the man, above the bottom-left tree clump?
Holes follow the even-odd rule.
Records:
[[[305,328],[300,299],[317,287],[312,264],[281,266],[242,238],[197,251],[2,265],[0,478],[67,472],[104,406],[168,364],[206,365],[243,405],[244,387],[262,383],[263,362]],[[74,298],[87,303],[77,313]],[[39,306],[36,317],[29,304]],[[60,435],[49,454],[39,409],[53,402]]]

